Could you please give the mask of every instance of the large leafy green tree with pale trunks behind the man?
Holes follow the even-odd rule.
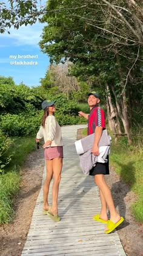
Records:
[[[134,38],[134,43],[128,43],[130,36],[133,36],[130,33],[127,34],[128,40],[122,38],[120,41],[115,35],[113,37],[112,33],[104,32],[102,34],[101,27],[94,24],[98,21],[105,24],[105,21],[107,22],[105,17],[111,10],[115,13],[116,10],[112,8],[113,6],[109,6],[107,1],[104,1],[107,3],[101,9],[101,2],[99,2],[98,9],[94,8],[97,2],[92,2],[92,9],[88,9],[86,6],[85,9],[77,8],[71,11],[71,7],[75,4],[74,1],[48,1],[48,15],[44,15],[42,20],[48,22],[48,26],[44,27],[40,46],[42,51],[50,56],[51,63],[59,63],[68,59],[75,63],[71,74],[82,77],[85,81],[88,80],[93,87],[98,85],[101,88],[107,98],[110,127],[116,133],[117,123],[121,133],[120,122],[122,121],[128,142],[131,143],[130,115],[128,115],[129,91],[133,88],[137,77],[141,77],[142,64],[139,59],[142,57],[142,48],[139,46],[141,40],[139,44],[135,44]],[[122,1],[120,3],[125,4]],[[77,7],[80,5],[81,2]],[[68,7],[68,15],[65,10],[56,14],[51,12],[53,9],[61,9],[65,6]],[[107,15],[103,15],[103,9],[107,6]],[[125,7],[127,7],[126,4]],[[123,11],[124,7],[120,10]],[[124,11],[126,12],[126,10]],[[92,24],[89,24],[88,20],[92,20]],[[115,18],[114,26],[118,28],[118,31],[126,33],[128,26],[124,28],[124,25]],[[132,25],[135,24],[132,23]],[[107,26],[108,30],[113,31],[113,23],[108,22]],[[135,69],[138,70],[138,73],[135,72]],[[139,81],[139,79],[137,80]]]

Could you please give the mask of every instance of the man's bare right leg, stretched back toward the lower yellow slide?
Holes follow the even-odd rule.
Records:
[[[105,182],[104,175],[103,174],[95,175],[95,182],[96,182],[96,185],[98,185],[99,189],[101,190],[102,196],[104,197],[105,202],[108,205],[111,221],[113,221],[114,223],[118,222],[119,219],[121,219],[121,216],[119,216],[118,213],[116,212],[116,208],[113,203],[113,198],[111,196],[111,191],[108,188],[107,183]]]

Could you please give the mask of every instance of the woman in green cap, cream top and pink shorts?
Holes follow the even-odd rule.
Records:
[[[42,117],[41,127],[36,135],[36,143],[44,137],[43,145],[44,156],[46,160],[47,175],[44,182],[44,206],[43,213],[48,215],[53,221],[60,221],[58,216],[58,191],[61,180],[63,141],[61,127],[56,121],[54,113],[56,111],[55,101],[45,100],[42,102],[44,115]],[[53,177],[52,187],[52,206],[48,204],[48,191]]]

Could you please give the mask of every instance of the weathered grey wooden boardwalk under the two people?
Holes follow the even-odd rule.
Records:
[[[62,127],[64,166],[58,200],[61,221],[53,222],[47,215],[42,215],[41,187],[23,256],[126,255],[118,233],[106,235],[105,225],[92,219],[93,215],[99,213],[101,203],[93,177],[84,176],[79,166],[74,142],[77,130],[82,127],[85,125]],[[44,179],[42,185],[43,182]],[[51,196],[49,203],[52,203]]]

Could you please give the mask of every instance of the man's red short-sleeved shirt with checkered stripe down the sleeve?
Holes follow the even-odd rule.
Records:
[[[90,135],[94,133],[96,126],[103,127],[103,129],[105,129],[104,110],[97,106],[91,108],[90,115],[88,115],[87,134]]]

